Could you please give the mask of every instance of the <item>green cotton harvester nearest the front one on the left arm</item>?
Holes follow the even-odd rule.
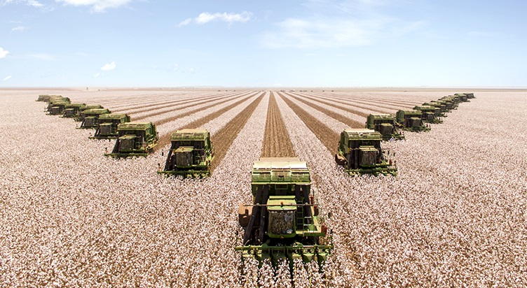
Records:
[[[184,177],[207,177],[214,159],[214,147],[207,129],[182,129],[170,135],[165,169],[158,171],[165,175]]]

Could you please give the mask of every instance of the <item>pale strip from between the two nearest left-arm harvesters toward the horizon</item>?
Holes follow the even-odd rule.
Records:
[[[240,96],[238,96],[240,97]],[[236,97],[236,98],[238,98]],[[196,129],[203,126],[203,124],[206,124],[207,122],[210,122],[211,120],[219,117],[219,115],[226,113],[226,111],[231,110],[235,108],[238,105],[243,105],[244,102],[250,103],[254,98],[254,94],[251,94],[247,97],[242,98],[241,100],[235,101],[236,99],[231,99],[226,102],[222,102],[220,104],[216,103],[209,108],[200,108],[196,113],[196,110],[193,110],[192,113],[185,113],[183,117],[173,116],[169,118],[163,118],[164,121],[159,124],[160,127],[158,129],[158,133],[160,134],[158,145],[156,150],[163,149],[165,145],[168,145],[170,143],[170,133],[177,129]],[[235,101],[235,102],[233,102]],[[224,104],[224,106],[221,106],[221,104]],[[186,118],[186,119],[185,119]],[[170,121],[166,121],[169,119]],[[180,120],[178,122],[175,122],[174,120]],[[158,123],[158,122],[156,122]],[[167,124],[171,125],[167,125]],[[165,125],[163,125],[165,124]]]

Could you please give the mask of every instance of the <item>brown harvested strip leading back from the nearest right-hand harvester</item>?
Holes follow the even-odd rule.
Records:
[[[289,106],[289,108],[291,108],[294,113],[299,116],[302,122],[306,124],[306,126],[313,132],[313,134],[317,136],[320,142],[324,146],[326,146],[327,150],[329,150],[329,152],[333,154],[338,146],[338,133],[329,129],[326,124],[320,122],[320,120],[318,120],[317,118],[309,115],[309,113],[306,113],[306,111],[296,105],[293,101],[291,101],[285,96],[282,96],[280,92],[278,92],[278,95],[282,98],[282,100],[285,101],[287,106]]]

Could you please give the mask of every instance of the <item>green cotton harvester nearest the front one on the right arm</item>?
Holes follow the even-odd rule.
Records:
[[[397,175],[397,167],[386,159],[381,148],[382,136],[371,129],[346,129],[341,133],[335,154],[337,164],[350,175]],[[389,152],[388,152],[389,154]]]

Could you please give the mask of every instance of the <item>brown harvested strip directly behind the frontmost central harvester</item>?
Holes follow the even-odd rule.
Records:
[[[296,157],[275,95],[271,92],[260,157]]]

